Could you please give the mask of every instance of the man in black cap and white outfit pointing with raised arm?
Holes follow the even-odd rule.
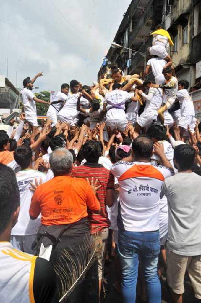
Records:
[[[23,100],[23,107],[24,107],[24,113],[25,118],[33,127],[33,130],[35,130],[38,126],[37,122],[37,112],[36,112],[36,102],[50,105],[49,102],[46,102],[44,100],[41,100],[37,98],[33,93],[33,83],[37,79],[37,77],[41,77],[43,74],[38,73],[32,80],[30,77],[27,77],[23,80],[23,86],[24,88],[21,90],[22,100]]]

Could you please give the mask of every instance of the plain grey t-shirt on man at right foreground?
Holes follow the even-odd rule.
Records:
[[[180,172],[167,178],[163,195],[168,201],[167,248],[178,255],[201,255],[201,176]]]

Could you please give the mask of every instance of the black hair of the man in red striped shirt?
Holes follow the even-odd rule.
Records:
[[[98,163],[101,156],[101,147],[97,141],[87,141],[83,146],[84,157],[89,163]]]

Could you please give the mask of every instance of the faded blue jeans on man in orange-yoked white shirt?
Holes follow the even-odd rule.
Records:
[[[118,252],[122,268],[123,302],[135,303],[140,256],[148,302],[161,303],[161,286],[157,273],[160,252],[159,231],[119,230]]]

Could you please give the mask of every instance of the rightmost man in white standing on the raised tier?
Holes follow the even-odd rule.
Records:
[[[187,128],[190,126],[190,131],[194,132],[196,126],[195,108],[193,101],[187,91],[189,82],[187,80],[180,80],[178,82],[177,100],[180,102],[180,110],[182,119],[179,126],[185,129],[183,136],[188,136]]]

